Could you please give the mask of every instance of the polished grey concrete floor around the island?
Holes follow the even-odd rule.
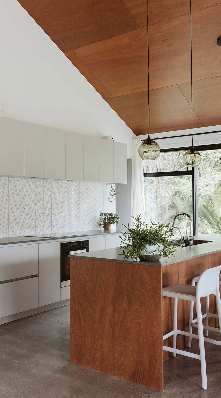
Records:
[[[211,336],[211,335],[210,335]],[[69,363],[69,306],[0,326],[1,398],[221,397],[221,347],[206,343],[208,390],[200,362],[182,356],[164,364],[165,390]],[[198,343],[192,350],[198,352]]]

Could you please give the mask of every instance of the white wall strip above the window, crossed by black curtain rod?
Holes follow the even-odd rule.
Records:
[[[209,127],[200,127],[198,129],[193,129],[193,133],[205,133],[209,131],[221,131],[221,125],[219,126],[209,126]],[[177,137],[171,139],[160,139],[161,137],[174,137],[176,135],[187,135],[187,137]],[[139,135],[140,139],[145,139],[147,135]],[[191,130],[179,130],[179,131],[168,131],[165,133],[151,134],[150,137],[152,139],[156,139],[161,149],[165,148],[179,148],[182,146],[190,146],[192,145],[191,139]],[[221,143],[221,133],[212,133],[212,134],[204,134],[204,135],[195,135],[194,136],[194,145],[209,145],[209,144],[219,144]]]

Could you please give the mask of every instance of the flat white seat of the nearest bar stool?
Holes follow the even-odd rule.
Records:
[[[182,285],[182,283],[175,283],[175,285],[163,288],[163,296],[196,301],[196,287],[191,285]]]

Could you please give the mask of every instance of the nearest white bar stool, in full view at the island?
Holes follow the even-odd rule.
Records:
[[[207,297],[210,294],[216,296],[217,301],[217,311],[219,319],[221,320],[221,300],[219,295],[219,273],[221,270],[221,265],[215,268],[209,268],[204,271],[198,280],[197,286],[181,285],[176,283],[172,286],[167,286],[163,288],[163,296],[174,298],[174,318],[173,318],[173,330],[163,336],[163,340],[173,336],[173,348],[163,345],[165,351],[173,353],[173,357],[176,354],[185,355],[186,357],[196,358],[200,360],[201,365],[201,376],[202,376],[202,388],[207,390],[207,377],[206,377],[206,365],[205,365],[205,348],[204,348],[204,331],[203,331],[203,321],[202,321],[202,310],[201,310],[201,297]],[[198,320],[198,335],[192,334],[190,332],[185,332],[183,330],[177,330],[177,303],[178,298],[181,300],[188,300],[191,302],[196,302],[196,314]],[[183,351],[176,348],[176,336],[181,334],[183,336],[199,339],[200,345],[200,355],[194,354],[188,351]],[[210,340],[210,339],[208,339]]]

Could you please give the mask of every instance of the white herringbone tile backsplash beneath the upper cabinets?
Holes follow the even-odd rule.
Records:
[[[100,229],[103,183],[0,177],[0,237]]]

